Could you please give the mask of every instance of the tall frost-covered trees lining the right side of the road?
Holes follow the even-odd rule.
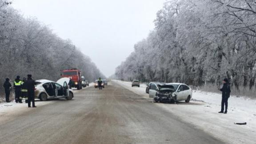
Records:
[[[256,0],[171,0],[116,68],[122,80],[255,88]]]

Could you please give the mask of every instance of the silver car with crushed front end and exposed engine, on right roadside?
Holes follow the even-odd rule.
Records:
[[[154,91],[154,90],[149,90]],[[169,83],[159,85],[153,102],[178,102],[185,100],[189,103],[192,98],[192,89],[186,84]]]

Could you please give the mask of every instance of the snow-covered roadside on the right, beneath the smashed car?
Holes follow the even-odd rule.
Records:
[[[131,82],[113,81],[152,101],[145,93],[145,84],[137,88],[132,87]],[[226,143],[256,144],[256,100],[231,96],[228,114],[220,114],[221,94],[193,90],[192,98],[190,103],[154,104]],[[247,125],[234,124],[239,122],[247,122]]]

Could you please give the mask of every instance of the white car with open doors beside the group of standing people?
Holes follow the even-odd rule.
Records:
[[[57,82],[51,80],[36,80],[35,98],[45,101],[48,99],[65,98],[72,100],[74,92],[68,88],[69,78],[61,78]]]

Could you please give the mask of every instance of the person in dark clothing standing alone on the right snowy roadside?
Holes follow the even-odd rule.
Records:
[[[228,98],[230,96],[230,84],[228,82],[229,80],[225,78],[223,80],[223,86],[220,88],[220,91],[222,92],[222,100],[221,100],[221,110],[219,113],[227,113],[228,112]],[[224,112],[224,105],[225,105],[225,112]]]

